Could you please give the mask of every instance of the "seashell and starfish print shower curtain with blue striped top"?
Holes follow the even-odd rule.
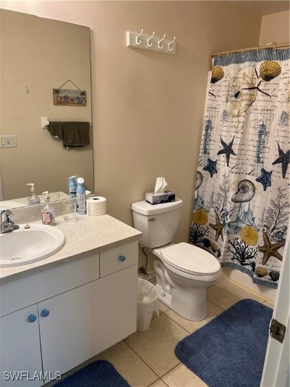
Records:
[[[276,288],[289,222],[289,49],[215,57],[190,243]]]

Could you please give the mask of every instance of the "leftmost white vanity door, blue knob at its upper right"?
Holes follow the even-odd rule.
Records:
[[[42,381],[27,377],[33,378],[35,372],[41,377],[42,371],[37,305],[1,317],[0,342],[1,387],[43,385]],[[22,380],[5,380],[7,372]]]

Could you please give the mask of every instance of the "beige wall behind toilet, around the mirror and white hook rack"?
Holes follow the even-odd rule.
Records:
[[[165,176],[184,201],[175,241],[187,241],[210,52],[258,44],[261,17],[230,2],[2,2],[2,7],[91,28],[95,186],[108,212]],[[126,47],[126,31],[176,36],[176,55]]]

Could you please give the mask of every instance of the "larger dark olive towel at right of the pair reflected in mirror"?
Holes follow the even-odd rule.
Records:
[[[63,146],[87,147],[90,145],[89,122],[63,122]]]

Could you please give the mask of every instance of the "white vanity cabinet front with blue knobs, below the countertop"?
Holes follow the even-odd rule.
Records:
[[[9,303],[0,318],[1,378],[4,371],[67,372],[135,332],[137,259],[134,240],[1,285],[1,303]],[[19,299],[24,308],[15,311]],[[19,385],[42,385],[29,383]]]

